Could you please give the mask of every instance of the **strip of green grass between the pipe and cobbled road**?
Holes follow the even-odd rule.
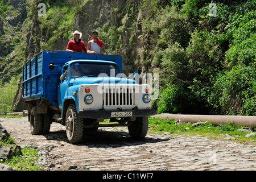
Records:
[[[227,135],[232,139],[236,139],[240,142],[253,142],[256,139],[256,135],[245,137],[246,132],[237,131],[245,126],[234,126],[232,123],[214,126],[210,122],[203,122],[200,126],[193,126],[193,123],[176,123],[175,119],[161,119],[161,118],[148,118],[149,133],[152,132],[169,132],[171,134],[179,135],[203,135],[210,138],[226,138]],[[253,131],[253,129],[251,129]]]

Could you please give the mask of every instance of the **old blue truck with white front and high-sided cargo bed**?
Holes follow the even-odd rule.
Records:
[[[31,134],[47,134],[57,122],[71,143],[113,126],[127,126],[132,138],[143,139],[155,110],[150,85],[134,79],[140,72],[123,77],[121,56],[45,49],[23,66],[22,102]]]

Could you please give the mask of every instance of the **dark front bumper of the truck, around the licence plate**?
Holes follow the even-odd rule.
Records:
[[[112,117],[112,113],[117,112],[132,112],[131,117],[145,117],[148,115],[155,115],[156,111],[155,109],[130,109],[130,110],[80,110],[79,111],[79,117],[80,118],[115,118]],[[117,117],[121,118],[121,117]]]

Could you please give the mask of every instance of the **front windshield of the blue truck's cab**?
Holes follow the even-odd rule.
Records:
[[[84,62],[76,62],[71,64],[71,76],[72,77],[98,77],[100,76],[116,76],[120,73],[117,65],[114,64],[95,64],[95,63],[84,63]]]

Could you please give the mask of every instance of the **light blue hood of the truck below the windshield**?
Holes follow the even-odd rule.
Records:
[[[136,84],[135,80],[117,77],[79,77],[71,79],[73,86],[82,84]]]

